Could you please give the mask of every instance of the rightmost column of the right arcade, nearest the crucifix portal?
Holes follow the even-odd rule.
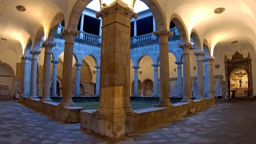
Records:
[[[213,92],[213,61],[214,58],[204,58],[204,65],[205,65],[205,76],[204,76],[204,82],[205,82],[205,94],[204,96],[206,98],[212,98],[214,96]]]

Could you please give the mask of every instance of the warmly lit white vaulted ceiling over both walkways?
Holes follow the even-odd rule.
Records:
[[[142,0],[143,1],[143,0]],[[157,1],[170,23],[172,14],[180,16],[185,30],[190,36],[196,30],[200,41],[206,39],[213,52],[218,44],[232,46],[250,44],[255,48],[256,41],[256,1],[255,0],[154,0]],[[61,12],[68,19],[76,0],[0,0],[0,50],[12,49],[17,56],[22,55],[29,39],[35,39],[43,27],[47,32],[53,17]],[[16,10],[17,5],[26,11]],[[226,10],[215,14],[214,9]]]

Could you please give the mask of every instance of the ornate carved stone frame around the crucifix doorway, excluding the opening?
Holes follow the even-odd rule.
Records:
[[[225,84],[225,98],[230,98],[230,74],[236,68],[242,68],[246,70],[248,74],[248,97],[252,97],[252,64],[250,54],[248,52],[248,57],[244,58],[243,54],[239,52],[235,52],[232,55],[232,59],[226,57],[225,54],[225,77],[226,77],[226,84]]]

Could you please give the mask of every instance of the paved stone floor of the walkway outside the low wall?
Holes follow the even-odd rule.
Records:
[[[166,126],[111,140],[63,124],[13,99],[0,99],[1,144],[256,144],[256,102],[216,101]]]

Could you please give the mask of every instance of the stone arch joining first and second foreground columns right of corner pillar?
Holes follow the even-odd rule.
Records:
[[[186,26],[180,16],[178,14],[172,14],[170,20],[175,24],[176,28],[178,29],[180,42],[181,43],[188,43],[190,42],[188,38],[188,32]],[[171,22],[170,21],[170,22]]]

